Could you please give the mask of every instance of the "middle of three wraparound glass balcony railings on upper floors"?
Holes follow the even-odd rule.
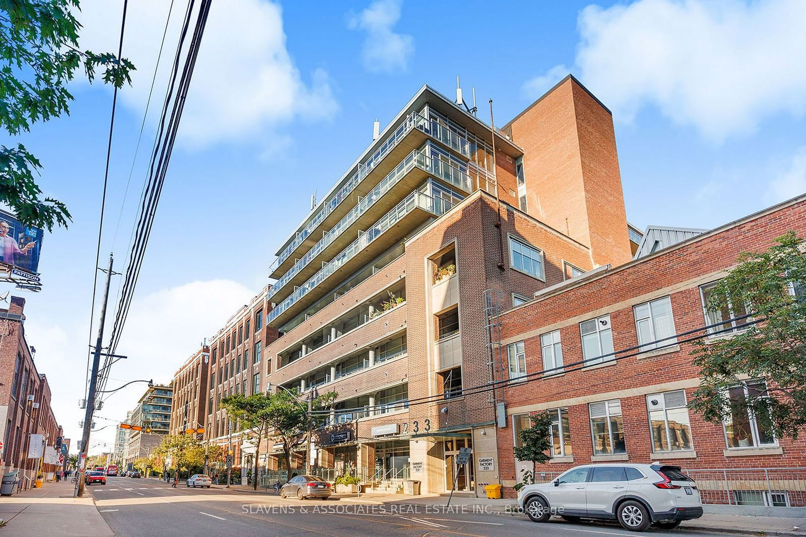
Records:
[[[277,280],[268,291],[268,298],[272,298],[272,296],[276,295],[285,287],[294,276],[299,274],[299,272],[308,265],[308,263],[316,258],[318,254],[321,254],[322,250],[330,246],[345,229],[349,228],[361,215],[366,213],[377,200],[380,200],[386,192],[400,182],[413,167],[419,167],[432,176],[439,177],[464,192],[472,192],[473,181],[472,176],[467,172],[467,167],[463,170],[455,164],[459,163],[448,163],[442,159],[433,159],[426,156],[422,151],[414,150],[409,153],[393,171],[390,171],[384,179],[380,180],[380,183],[378,183],[375,188],[372,188],[372,191],[370,191],[363,200],[359,201],[338,224],[334,225],[333,229],[325,233],[325,236],[322,237],[313,248],[308,250],[301,259],[294,263],[294,265]]]

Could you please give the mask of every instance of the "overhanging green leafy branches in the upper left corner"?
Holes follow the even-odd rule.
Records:
[[[78,0],[5,0],[0,2],[0,126],[11,136],[69,114],[67,89],[77,69],[89,81],[101,68],[102,80],[120,88],[131,83],[134,65],[109,52],[80,51],[73,10]],[[0,203],[7,204],[27,225],[53,229],[71,220],[59,200],[42,198],[34,174],[42,164],[18,143],[0,146]]]

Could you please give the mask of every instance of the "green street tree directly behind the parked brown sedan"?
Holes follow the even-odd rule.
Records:
[[[291,471],[291,452],[301,441],[316,428],[327,422],[326,410],[333,407],[336,392],[314,397],[311,402],[313,412],[308,415],[308,405],[299,399],[299,390],[278,390],[276,394],[268,394],[268,406],[261,412],[261,419],[268,423],[272,438],[283,444],[285,468]]]

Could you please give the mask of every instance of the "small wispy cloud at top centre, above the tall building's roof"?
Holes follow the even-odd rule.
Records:
[[[414,54],[411,35],[397,34],[392,27],[401,19],[401,0],[376,0],[359,14],[350,14],[347,26],[367,32],[362,56],[372,72],[403,72]]]

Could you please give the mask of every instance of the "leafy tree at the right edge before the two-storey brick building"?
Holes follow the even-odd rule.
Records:
[[[688,407],[712,423],[752,416],[761,431],[797,438],[806,425],[804,239],[790,232],[767,250],[745,252],[737,261],[713,288],[705,308],[749,327],[730,337],[695,342],[692,355],[701,381]],[[745,310],[752,317],[738,319]]]

